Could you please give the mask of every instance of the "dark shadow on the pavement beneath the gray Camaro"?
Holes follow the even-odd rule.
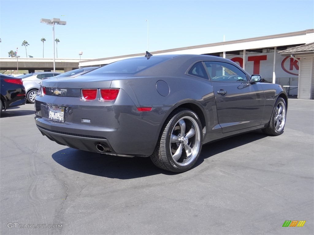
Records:
[[[204,159],[214,156],[215,154],[244,144],[249,144],[252,141],[265,137],[267,137],[267,135],[263,134],[261,131],[255,131],[206,144],[203,146],[201,155],[193,168],[202,164]],[[157,168],[149,157],[118,157],[65,148],[52,154],[52,159],[69,170],[122,180],[158,174],[178,174]]]

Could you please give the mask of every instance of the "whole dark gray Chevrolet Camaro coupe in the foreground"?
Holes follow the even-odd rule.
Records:
[[[43,80],[35,123],[58,144],[118,156],[149,156],[183,172],[202,144],[262,129],[284,131],[287,95],[234,62],[209,55],[116,61],[75,78]]]

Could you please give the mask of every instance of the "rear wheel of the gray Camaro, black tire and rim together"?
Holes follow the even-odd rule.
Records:
[[[178,108],[165,121],[150,159],[164,170],[187,171],[196,163],[202,143],[203,129],[196,113]]]

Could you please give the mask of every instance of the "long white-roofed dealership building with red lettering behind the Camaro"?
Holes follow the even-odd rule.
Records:
[[[299,99],[314,98],[314,29],[150,53],[224,57],[240,65],[249,74],[260,74],[267,82],[284,86],[290,96]],[[145,53],[139,53],[85,60],[80,62],[80,66],[101,66],[144,55]]]

